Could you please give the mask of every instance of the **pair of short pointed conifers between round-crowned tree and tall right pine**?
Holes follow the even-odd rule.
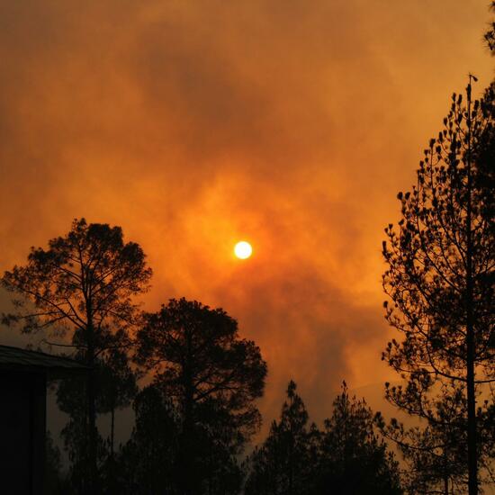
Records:
[[[320,430],[309,424],[296,384],[265,442],[247,458],[246,495],[401,494],[398,463],[375,432],[365,400],[346,383]]]

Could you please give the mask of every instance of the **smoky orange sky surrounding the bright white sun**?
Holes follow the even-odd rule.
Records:
[[[121,225],[149,310],[223,307],[268,361],[266,416],[290,378],[329,414],[343,378],[393,376],[383,227],[450,94],[493,76],[488,4],[0,0],[0,270],[75,217]]]

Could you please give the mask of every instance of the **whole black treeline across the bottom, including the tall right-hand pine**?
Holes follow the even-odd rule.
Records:
[[[490,90],[486,101],[473,103],[471,117],[479,112],[484,122],[472,150],[473,184],[468,188],[477,200],[471,214],[481,226],[475,238],[480,246],[493,243],[495,208],[488,193],[493,184],[492,102]],[[457,142],[455,126],[462,125],[465,112],[461,99],[455,99],[440,142]],[[428,162],[419,171],[424,192],[400,195],[406,220],[400,222],[399,234],[387,229],[390,246],[383,251],[390,266],[384,285],[395,303],[392,310],[387,306],[387,318],[406,337],[402,343],[392,341],[383,358],[409,373],[405,388],[387,387],[386,395],[402,410],[427,419],[425,428],[408,429],[396,420],[386,424],[380,415],[374,418],[365,401],[349,398],[346,386],[324,427],[317,428],[308,424],[292,382],[281,418],[245,459],[247,442],[261,423],[256,401],[264,392],[266,363],[259,348],[239,336],[237,321],[225,311],[200,302],[170,300],[155,313],[139,311],[133,298],[147,290],[151,275],[142,249],[124,243],[120,228],[75,220],[65,237],[49,241],[47,250],[33,248],[26,266],[14,266],[2,279],[4,287],[23,296],[17,312],[4,315],[4,322],[20,323],[24,332],[45,332],[47,345],[62,346],[66,353],[67,347],[72,349],[71,356],[91,369],[85,380],[58,384],[58,407],[69,415],[62,439],[70,464],[62,473],[58,449],[49,441],[47,492],[373,495],[428,493],[441,485],[446,495],[462,490],[470,473],[465,304],[462,293],[449,293],[445,286],[453,252],[445,260],[444,244],[435,246],[448,236],[446,226],[452,226],[452,235],[462,231],[465,172],[457,157],[466,158],[465,145],[451,144],[446,157],[454,160],[452,170],[437,166],[430,157],[436,153],[435,159],[441,159],[438,146],[433,150],[431,145]],[[428,177],[422,179],[427,170]],[[455,194],[459,204],[447,204],[442,194]],[[459,219],[450,224],[442,216],[456,214]],[[415,215],[426,230],[415,226]],[[429,251],[424,247],[428,243]],[[481,259],[482,266],[491,266],[492,253],[473,246],[473,259]],[[442,263],[442,277],[428,275]],[[452,284],[462,284],[459,269]],[[485,373],[480,375],[478,368],[478,388],[490,382],[492,373],[492,281],[485,275],[472,294],[477,298],[474,314],[479,315],[472,320],[477,334],[473,356]],[[419,297],[422,293],[430,294],[427,302]],[[144,375],[148,382],[139,390]],[[442,388],[435,397],[437,382]],[[135,426],[130,440],[116,446],[115,413],[130,404]],[[494,410],[489,395],[474,417],[476,475],[479,466],[490,474]],[[97,428],[96,418],[102,414],[112,418],[109,437]],[[399,446],[409,465],[405,475],[400,477],[375,428]]]

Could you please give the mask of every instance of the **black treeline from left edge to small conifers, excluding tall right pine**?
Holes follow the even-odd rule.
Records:
[[[69,416],[62,439],[70,464],[61,475],[57,447],[49,442],[47,490],[398,492],[396,464],[374,436],[371,411],[350,401],[347,389],[325,428],[308,430],[291,383],[280,422],[244,462],[261,424],[256,401],[266,363],[259,348],[238,335],[237,321],[225,311],[201,302],[170,300],[155,313],[139,311],[133,297],[147,289],[150,275],[142,249],[125,243],[120,228],[83,219],[48,249],[33,248],[25,266],[3,277],[8,290],[23,296],[4,322],[44,331],[47,345],[72,349],[91,370],[86,379],[58,383],[58,407]],[[139,390],[144,374],[148,384]],[[117,447],[115,412],[130,404],[135,426]],[[102,414],[112,418],[109,437],[97,428]]]

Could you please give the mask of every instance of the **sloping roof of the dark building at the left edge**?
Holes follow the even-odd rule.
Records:
[[[82,373],[89,369],[73,359],[19,347],[0,346],[0,370],[46,371],[50,374]]]

